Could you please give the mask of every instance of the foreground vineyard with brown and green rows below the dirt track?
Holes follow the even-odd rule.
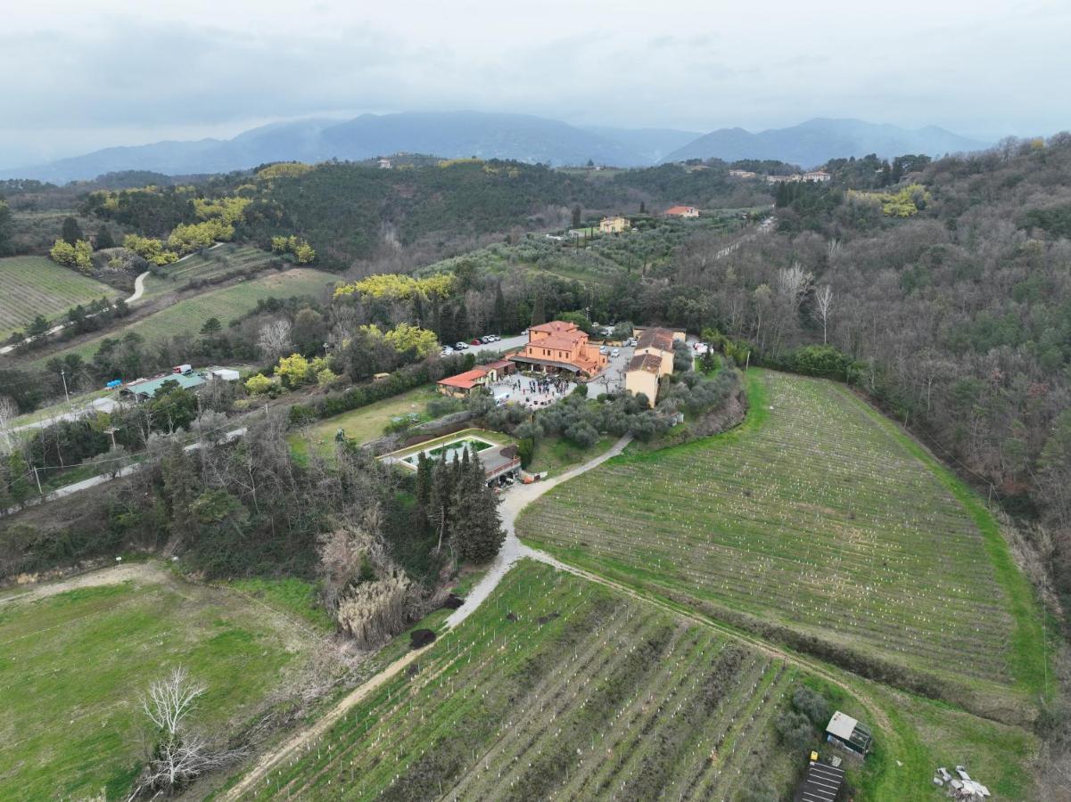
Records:
[[[771,721],[799,671],[523,561],[257,799],[731,799],[787,790]],[[797,756],[799,757],[799,756]]]

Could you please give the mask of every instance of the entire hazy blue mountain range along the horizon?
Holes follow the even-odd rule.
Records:
[[[934,126],[915,131],[860,120],[816,119],[752,134],[675,128],[577,127],[530,115],[478,111],[361,115],[352,120],[305,119],[246,131],[232,139],[162,141],[105,148],[42,165],[0,170],[0,179],[54,183],[106,172],[152,170],[169,176],[226,172],[266,162],[361,161],[392,153],[448,158],[515,158],[550,165],[649,166],[689,158],[772,158],[811,167],[838,156],[877,153],[942,155],[986,143]]]

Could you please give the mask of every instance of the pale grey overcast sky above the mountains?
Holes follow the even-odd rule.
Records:
[[[1071,128],[1069,35],[1071,0],[13,2],[0,165],[363,111],[1047,135]]]

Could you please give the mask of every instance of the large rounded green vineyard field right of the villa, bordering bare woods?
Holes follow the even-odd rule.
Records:
[[[842,387],[750,379],[741,428],[627,452],[539,499],[518,534],[764,637],[1028,718],[1046,690],[1042,626],[984,508]]]

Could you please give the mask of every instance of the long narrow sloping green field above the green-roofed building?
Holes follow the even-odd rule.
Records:
[[[337,278],[330,273],[307,268],[296,268],[282,273],[260,276],[230,287],[205,292],[196,298],[179,301],[130,326],[116,329],[79,346],[42,357],[30,364],[41,367],[52,357],[62,358],[69,353],[78,353],[86,360],[92,360],[105,336],[122,337],[129,332],[137,332],[145,337],[147,343],[164,336],[196,335],[200,332],[205,321],[211,317],[218,318],[226,327],[228,321],[255,308],[257,301],[273,296],[287,298],[289,296],[316,294],[333,286]]]

